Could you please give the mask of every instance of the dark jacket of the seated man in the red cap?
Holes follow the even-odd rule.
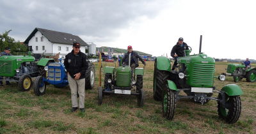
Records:
[[[127,52],[126,54],[125,54],[125,56],[124,56],[124,59],[123,59],[123,61],[122,61],[122,63],[123,64],[129,64],[129,52]],[[143,63],[143,64],[145,64],[145,61],[139,56],[139,54],[137,53],[137,52],[134,52],[134,51],[132,51],[131,52],[131,64],[132,63],[135,63],[136,64],[136,67],[138,67],[139,66],[139,61],[138,61],[138,59],[140,59],[140,61]]]

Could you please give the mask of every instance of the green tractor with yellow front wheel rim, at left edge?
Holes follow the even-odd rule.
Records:
[[[33,84],[31,77],[45,75],[44,66],[49,61],[54,62],[54,59],[39,59],[30,53],[28,56],[1,56],[0,76],[10,82],[17,82],[20,91],[29,91]]]

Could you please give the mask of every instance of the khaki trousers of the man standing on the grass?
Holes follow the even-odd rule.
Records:
[[[68,74],[68,84],[71,91],[71,101],[72,107],[78,107],[77,103],[77,91],[79,94],[79,108],[84,108],[84,88],[85,88],[85,78],[76,80]]]

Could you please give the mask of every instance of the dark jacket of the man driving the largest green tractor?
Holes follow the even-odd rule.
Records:
[[[174,57],[176,53],[178,57],[184,57],[185,56],[184,50],[188,50],[187,43],[183,42],[182,45],[179,45],[179,43],[177,42],[177,44],[172,48],[171,56]]]

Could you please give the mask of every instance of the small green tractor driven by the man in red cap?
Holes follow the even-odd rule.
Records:
[[[101,59],[101,58],[100,58]],[[138,107],[144,105],[143,92],[143,74],[144,68],[135,68],[132,73],[131,55],[129,56],[129,65],[122,65],[118,67],[105,66],[104,67],[104,87],[101,87],[101,60],[99,70],[99,89],[98,89],[98,104],[102,104],[102,97],[104,94],[129,94],[136,95]]]

